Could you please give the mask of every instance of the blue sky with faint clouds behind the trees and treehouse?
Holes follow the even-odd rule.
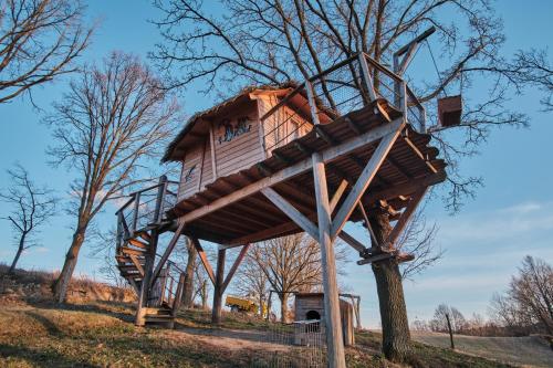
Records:
[[[553,13],[553,3],[528,0],[498,2],[498,13],[504,20],[508,36],[505,55],[518,49],[549,48],[553,39],[545,31]],[[83,61],[103,57],[112,50],[134,52],[143,57],[152,51],[158,32],[147,19],[156,17],[149,1],[91,1],[87,10],[91,21],[97,20],[92,46]],[[551,32],[549,32],[551,33]],[[428,55],[417,57],[428,61]],[[434,69],[427,70],[435,73]],[[49,111],[51,103],[64,91],[66,81],[59,81],[36,90],[33,99]],[[481,147],[481,155],[463,161],[463,172],[486,179],[478,197],[468,201],[462,211],[451,217],[440,200],[427,206],[427,218],[436,221],[440,231],[437,242],[445,257],[416,278],[405,283],[410,318],[428,318],[439,303],[457,306],[466,315],[478,312],[486,315],[494,292],[509,283],[525,254],[553,262],[553,158],[552,115],[540,112],[540,94],[534,91],[518,96],[511,103],[529,114],[530,129],[499,129]],[[182,96],[187,114],[208,107],[210,101],[188,91]],[[30,106],[27,98],[0,105],[0,187],[6,187],[8,169],[19,161],[31,171],[38,182],[55,188],[66,198],[71,174],[45,164],[44,150],[50,140],[49,129],[40,124],[42,112]],[[4,204],[0,204],[0,213]],[[102,214],[102,223],[114,219],[113,209]],[[71,218],[61,214],[41,234],[41,246],[21,259],[28,269],[58,270],[69,246]],[[0,232],[9,233],[6,222]],[[359,234],[361,235],[361,234]],[[0,262],[9,263],[14,246],[4,238],[0,246]],[[95,275],[98,261],[83,249],[77,273]],[[363,322],[378,326],[378,303],[369,266],[349,264],[343,281],[362,296]]]

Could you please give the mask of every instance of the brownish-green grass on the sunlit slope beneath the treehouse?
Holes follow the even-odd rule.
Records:
[[[209,314],[186,311],[176,330],[133,325],[133,307],[96,302],[60,308],[52,304],[0,306],[1,367],[248,367],[270,360],[264,322],[225,314],[221,327]],[[348,367],[397,367],[379,354],[380,336],[356,334]],[[281,348],[282,349],[282,348]],[[283,349],[295,349],[284,347]],[[483,358],[422,344],[417,367],[507,367]],[[286,355],[286,354],[284,354]]]

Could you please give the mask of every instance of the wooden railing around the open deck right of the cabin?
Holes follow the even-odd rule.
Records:
[[[303,105],[289,108],[299,94],[304,97]],[[273,149],[305,134],[311,129],[305,125],[334,120],[376,98],[385,98],[404,113],[407,123],[417,132],[426,132],[425,107],[407,83],[361,53],[304,81],[261,117],[265,151],[270,155]]]

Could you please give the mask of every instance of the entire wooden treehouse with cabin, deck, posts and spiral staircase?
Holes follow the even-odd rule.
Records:
[[[173,320],[184,276],[170,255],[181,234],[213,284],[217,323],[248,249],[305,232],[321,245],[330,360],[343,355],[333,335],[341,330],[335,240],[359,254],[359,265],[411,260],[397,239],[428,188],[446,178],[424,106],[400,75],[363,53],[302,83],[243,90],[192,116],[163,161],[180,162],[180,179],[163,177],[117,211],[116,260],[139,295],[136,323]],[[374,213],[394,225],[384,241],[368,221]],[[361,222],[371,241],[347,233],[348,221]],[[171,238],[161,243],[165,232]],[[215,271],[201,241],[218,244]],[[225,275],[226,251],[238,246]]]

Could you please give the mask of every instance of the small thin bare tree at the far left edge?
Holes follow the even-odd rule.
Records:
[[[40,228],[55,215],[58,199],[48,187],[38,187],[29,177],[29,172],[21,166],[15,165],[8,170],[10,187],[0,192],[0,201],[10,208],[9,214],[0,219],[10,222],[18,251],[8,273],[13,273],[19,257],[23,251],[35,246],[33,239]]]

